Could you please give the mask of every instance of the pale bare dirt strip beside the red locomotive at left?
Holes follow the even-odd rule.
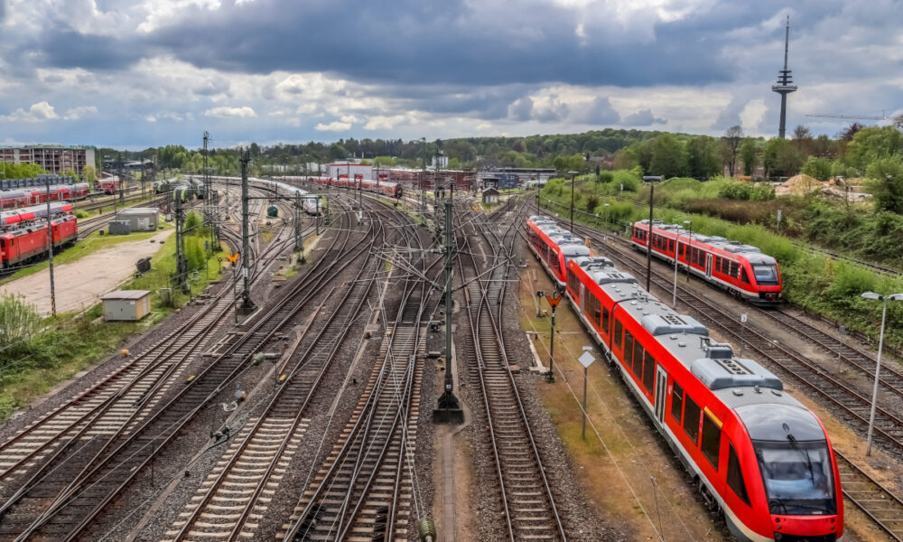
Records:
[[[57,313],[80,311],[97,304],[101,295],[135,273],[138,259],[153,256],[160,249],[160,242],[169,238],[172,231],[166,229],[150,239],[126,241],[80,257],[71,264],[53,266]],[[28,303],[37,307],[38,313],[50,314],[50,271],[44,269],[0,286],[0,295],[4,294],[23,294]]]

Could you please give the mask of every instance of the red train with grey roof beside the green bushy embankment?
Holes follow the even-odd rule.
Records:
[[[645,251],[649,241],[649,220],[633,225],[630,241]],[[676,245],[676,247],[675,247]],[[781,273],[777,260],[759,248],[738,241],[694,233],[661,220],[652,223],[652,254],[689,268],[695,276],[724,288],[752,304],[777,304],[781,299]]]

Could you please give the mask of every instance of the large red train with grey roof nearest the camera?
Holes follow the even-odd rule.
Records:
[[[553,239],[545,217],[528,231]],[[548,266],[547,266],[548,267]],[[554,276],[554,274],[553,274]],[[557,281],[557,276],[554,276]],[[824,426],[754,360],[712,341],[605,257],[568,259],[566,294],[604,356],[618,367],[693,476],[712,509],[741,540],[833,542],[843,533],[840,474]]]

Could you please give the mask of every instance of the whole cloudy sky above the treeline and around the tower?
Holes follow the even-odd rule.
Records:
[[[0,143],[773,135],[787,15],[788,130],[903,110],[896,0],[0,0]]]

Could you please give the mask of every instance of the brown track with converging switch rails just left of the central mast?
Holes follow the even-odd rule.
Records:
[[[408,238],[409,248],[420,248],[413,228],[399,231]],[[426,273],[423,253],[417,254],[406,265]],[[423,281],[397,280],[403,282],[402,302],[395,321],[386,322],[381,361],[371,371],[342,440],[279,534],[284,541],[401,541],[416,532],[412,518],[424,513],[413,480],[413,446],[425,354],[421,320],[427,299]],[[381,313],[385,317],[385,307]]]

